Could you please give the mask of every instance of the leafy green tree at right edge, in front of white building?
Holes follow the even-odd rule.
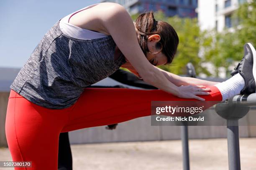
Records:
[[[215,76],[219,67],[225,67],[226,76],[230,77],[232,70],[228,67],[242,59],[243,45],[246,42],[256,45],[256,1],[240,5],[232,16],[232,25],[233,28],[223,32],[208,32],[212,41],[204,51],[204,58],[215,66]]]

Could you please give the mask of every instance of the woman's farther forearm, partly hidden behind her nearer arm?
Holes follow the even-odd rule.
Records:
[[[157,67],[158,68],[158,67]],[[165,77],[174,85],[181,86],[181,85],[204,85],[206,87],[218,84],[220,82],[213,82],[213,81],[207,81],[207,80],[200,80],[198,78],[193,78],[193,77],[182,77],[179,75],[175,75],[171,72],[167,72],[165,70],[162,70],[158,68],[164,75]]]

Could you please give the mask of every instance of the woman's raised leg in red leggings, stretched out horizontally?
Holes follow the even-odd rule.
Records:
[[[206,101],[221,101],[217,87],[210,95],[200,95]],[[151,101],[199,101],[176,97],[162,90],[137,90],[120,88],[86,88],[69,110],[69,122],[62,132],[115,124],[151,115]],[[206,103],[206,102],[205,102]],[[217,102],[208,103],[207,107]]]

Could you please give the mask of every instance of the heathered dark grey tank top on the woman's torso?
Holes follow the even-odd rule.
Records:
[[[108,77],[125,63],[123,55],[113,60],[116,44],[111,36],[75,39],[61,32],[59,21],[46,32],[10,86],[49,109],[70,107],[84,87]]]

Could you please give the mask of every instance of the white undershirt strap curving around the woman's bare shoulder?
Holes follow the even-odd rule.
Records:
[[[97,4],[99,4],[99,3],[97,3]],[[72,15],[79,13],[82,10],[93,7],[97,4],[93,4],[93,5],[84,7],[82,9],[77,10],[76,12],[71,13],[71,14],[65,16],[64,18],[62,18],[59,22],[59,28],[61,29],[63,34],[68,35],[69,37],[73,37],[73,38],[81,39],[81,40],[92,40],[92,39],[97,39],[97,38],[108,36],[108,35],[105,35],[100,32],[79,28],[79,27],[69,23],[69,19],[72,17]]]

